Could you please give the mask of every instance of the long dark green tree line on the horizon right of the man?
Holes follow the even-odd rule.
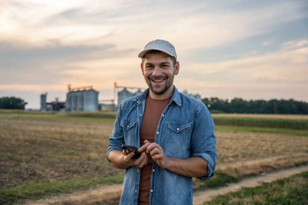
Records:
[[[211,113],[251,113],[251,114],[308,114],[308,103],[294,99],[232,100],[217,97],[203,98],[202,102]]]

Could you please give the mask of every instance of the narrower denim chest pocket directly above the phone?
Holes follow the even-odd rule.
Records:
[[[135,146],[136,121],[121,120],[120,126],[123,128],[123,136],[126,145]]]

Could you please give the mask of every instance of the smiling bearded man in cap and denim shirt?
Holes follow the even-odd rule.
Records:
[[[171,43],[151,41],[138,57],[149,88],[120,105],[107,150],[111,164],[126,169],[120,204],[192,204],[192,177],[214,174],[212,117],[173,85],[180,64]],[[141,156],[132,159],[124,144]]]

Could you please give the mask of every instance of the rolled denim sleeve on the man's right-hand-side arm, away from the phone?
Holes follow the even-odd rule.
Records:
[[[192,157],[201,157],[207,162],[207,175],[197,177],[205,180],[214,175],[216,167],[216,137],[214,135],[214,122],[208,109],[202,105],[198,113],[191,140]]]

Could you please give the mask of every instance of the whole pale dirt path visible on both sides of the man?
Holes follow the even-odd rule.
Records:
[[[308,165],[293,167],[272,173],[265,174],[263,176],[249,177],[241,180],[238,183],[229,183],[225,187],[217,189],[207,189],[203,191],[194,191],[193,202],[195,205],[200,205],[205,201],[209,201],[211,198],[219,195],[226,194],[228,192],[234,192],[242,187],[254,187],[260,185],[262,182],[270,182],[280,178],[289,177],[293,174],[308,171]],[[97,201],[114,201],[119,197],[122,191],[122,184],[105,185],[101,188],[87,191],[80,191],[73,194],[61,194],[60,196],[54,196],[48,199],[40,199],[37,201],[29,201],[27,204],[31,205],[43,205],[43,204],[89,204],[89,202]],[[109,203],[106,203],[109,204]],[[116,203],[111,203],[116,204]]]

